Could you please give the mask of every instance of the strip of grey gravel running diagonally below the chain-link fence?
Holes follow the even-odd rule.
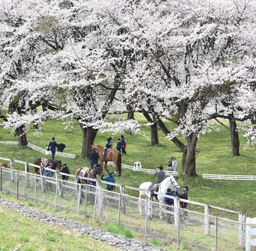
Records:
[[[88,226],[80,222],[76,222],[74,220],[70,220],[65,217],[31,208],[14,201],[0,199],[0,206],[15,210],[19,214],[27,216],[31,219],[61,227],[61,229],[70,230],[81,235],[88,235],[95,240],[106,242],[111,246],[117,247],[122,250],[163,250],[161,248],[148,245],[146,243],[142,243],[127,237],[115,235],[100,229],[95,229],[94,227]]]

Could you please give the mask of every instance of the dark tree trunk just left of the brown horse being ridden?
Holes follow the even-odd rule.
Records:
[[[82,130],[82,158],[86,158],[90,156],[90,153],[91,153],[90,145],[93,145],[98,129],[94,129],[92,127],[83,128],[81,126],[81,130]]]

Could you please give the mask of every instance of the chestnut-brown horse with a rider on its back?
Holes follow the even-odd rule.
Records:
[[[122,155],[117,149],[111,149],[108,151],[108,154],[106,156],[103,156],[103,149],[104,147],[99,145],[91,145],[91,148],[96,148],[96,151],[99,153],[99,159],[100,159],[100,166],[103,169],[103,162],[105,162],[105,169],[107,172],[109,170],[106,168],[106,164],[108,164],[108,161],[113,161],[116,167],[116,172],[118,173],[118,176],[121,176],[121,161],[122,161]]]

